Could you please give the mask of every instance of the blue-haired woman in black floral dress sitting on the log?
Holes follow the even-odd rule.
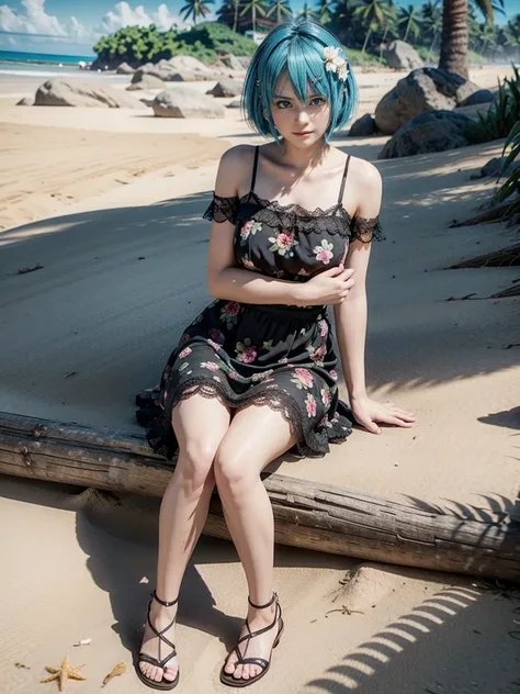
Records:
[[[324,456],[351,433],[349,414],[375,434],[377,422],[409,427],[415,419],[365,390],[365,275],[370,242],[383,238],[382,182],[374,166],[328,144],[355,101],[341,45],[309,21],[274,29],[248,69],[248,122],[274,142],[222,157],[205,213],[213,220],[207,282],[215,301],[171,354],[148,430],[156,452],[171,459],[179,449],[161,504],[157,589],[137,664],[151,687],[179,682],[178,594],[214,485],[249,589],[248,616],[221,680],[246,686],[267,673],[283,630],[261,470],[287,450]],[[350,410],[338,399],[328,305]]]

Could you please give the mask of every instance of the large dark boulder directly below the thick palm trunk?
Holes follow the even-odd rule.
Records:
[[[451,111],[478,87],[460,75],[425,67],[412,70],[386,93],[375,108],[375,124],[385,135],[427,111]]]

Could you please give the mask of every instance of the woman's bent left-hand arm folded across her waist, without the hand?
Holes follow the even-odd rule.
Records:
[[[240,198],[240,183],[251,176],[252,153],[252,147],[238,145],[223,155],[215,194]],[[207,261],[207,288],[212,296],[255,304],[306,304],[302,283],[262,277],[237,267],[234,234],[234,222],[212,222]]]

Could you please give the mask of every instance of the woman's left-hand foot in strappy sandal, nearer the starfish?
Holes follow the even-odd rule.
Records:
[[[172,622],[177,617],[178,605],[179,603],[176,602],[174,605],[166,607],[157,601],[154,593],[154,598],[151,600],[151,604],[149,607],[148,618],[146,620],[140,653],[146,653],[151,658],[157,658],[157,660],[163,661],[173,652],[173,648],[166,643],[163,639],[166,638],[171,643],[174,643],[176,625],[172,624]],[[169,625],[171,626],[163,633],[163,638],[159,639],[159,637],[151,629],[149,622],[151,622],[151,624],[158,631],[162,631]],[[159,668],[158,665],[152,665],[151,663],[142,660],[140,653],[138,656],[138,664],[145,678],[147,678],[151,682],[160,682],[161,680],[166,682],[173,682],[176,680],[177,673],[179,672],[177,656],[173,656],[170,660],[168,660],[168,662],[165,663],[165,668]]]

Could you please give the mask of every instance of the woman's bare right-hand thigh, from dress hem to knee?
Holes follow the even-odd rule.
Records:
[[[224,435],[215,457],[215,472],[226,478],[258,475],[296,443],[289,422],[268,405],[239,410]]]

